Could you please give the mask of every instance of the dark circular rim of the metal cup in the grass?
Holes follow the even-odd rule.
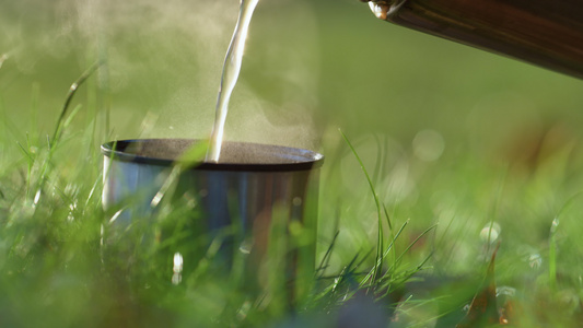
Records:
[[[137,152],[127,151],[128,149],[140,149],[140,144],[156,144],[164,147],[164,144],[172,144],[174,148],[187,150],[199,139],[126,139],[109,141],[101,147],[102,153],[113,161],[138,163],[145,165],[172,166],[175,161],[167,157],[154,157],[149,155],[140,155]],[[224,141],[223,148],[230,147],[247,147],[260,153],[275,153],[273,159],[277,163],[208,163],[202,162],[194,165],[191,169],[201,171],[245,171],[245,172],[292,172],[292,171],[310,171],[320,167],[324,164],[324,155],[305,149],[290,148],[283,145],[254,143],[254,142],[235,142]]]

